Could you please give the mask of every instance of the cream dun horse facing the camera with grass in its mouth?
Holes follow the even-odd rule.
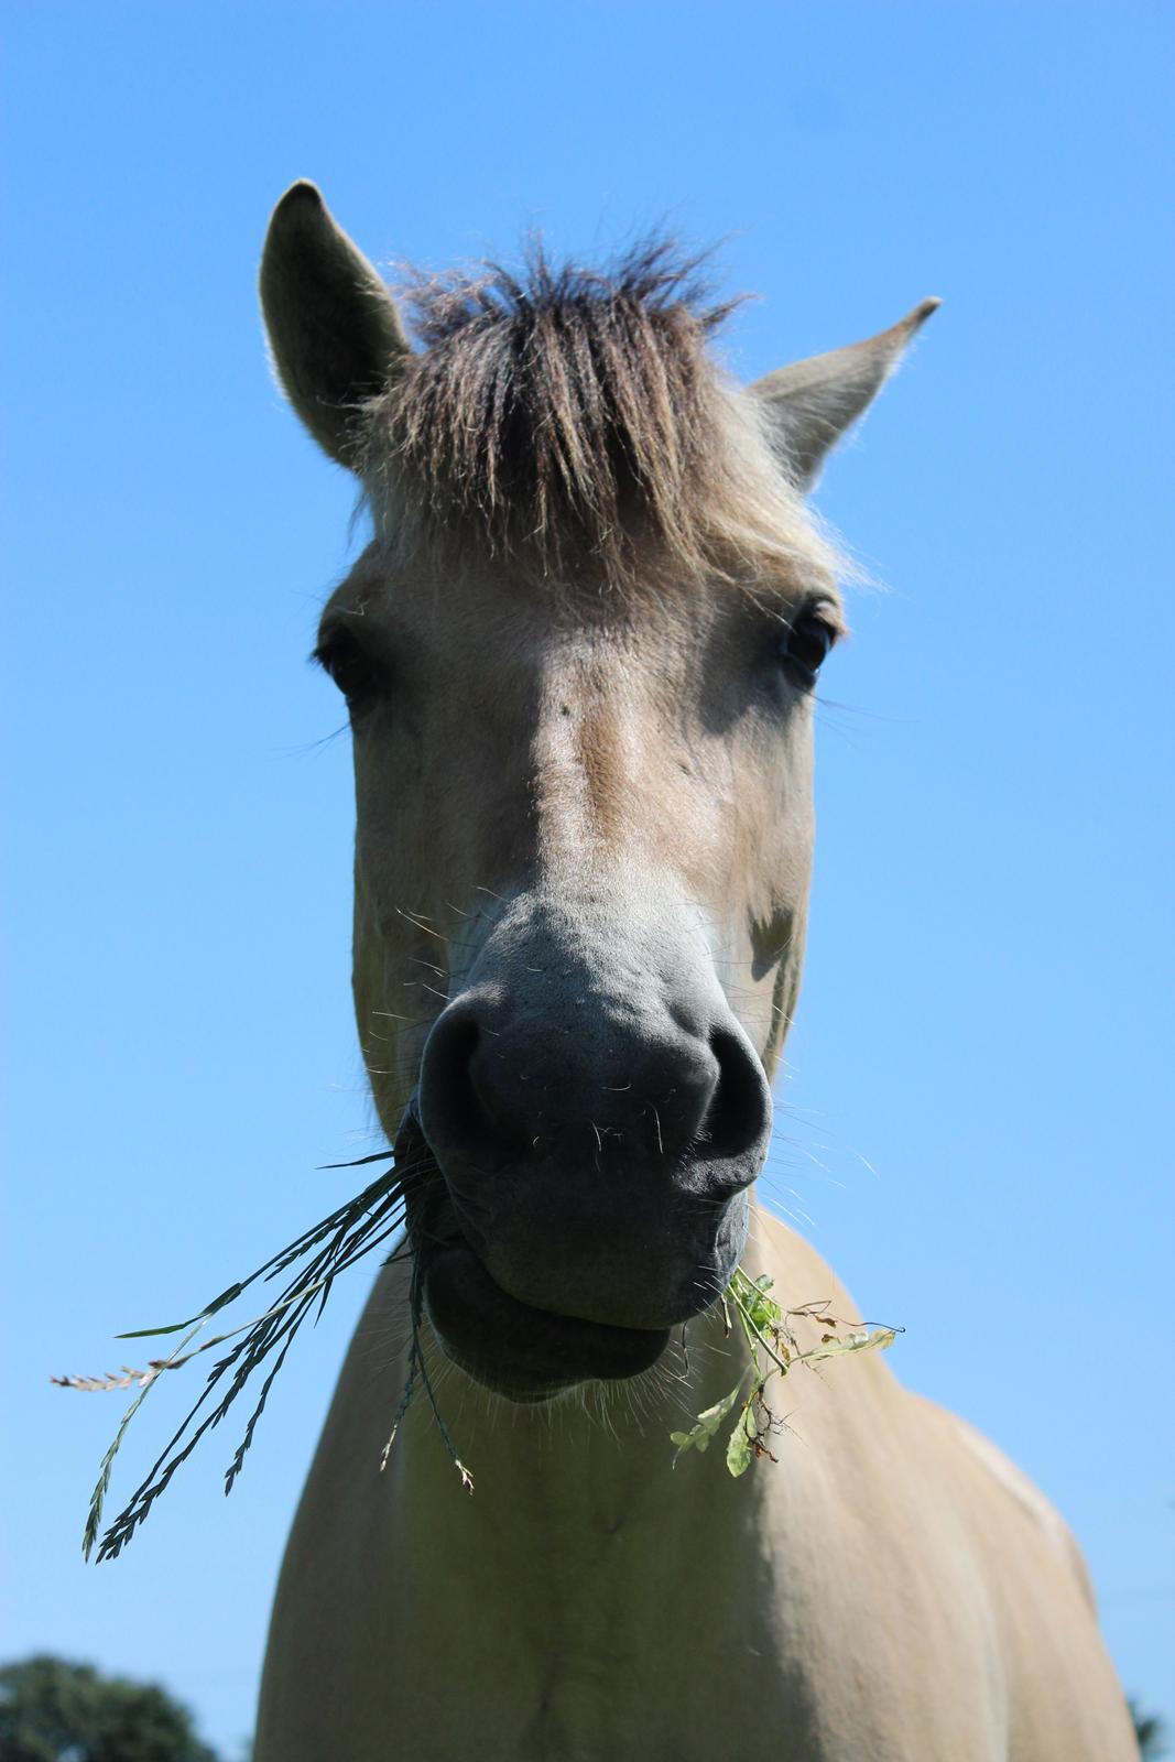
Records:
[[[278,381],[372,516],[315,655],[407,1249],[294,1521],[257,1762],[1136,1755],[1060,1517],[881,1353],[793,1367],[775,1466],[668,1438],[745,1373],[736,1269],[800,1350],[854,1313],[754,1200],[844,633],[807,493],[937,305],[742,386],[703,282],[536,247],[416,277],[410,342],[312,183],[270,222]]]

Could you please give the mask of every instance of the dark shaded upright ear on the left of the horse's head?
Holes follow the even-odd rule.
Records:
[[[273,210],[261,310],[289,402],[319,446],[354,469],[356,409],[400,377],[410,351],[381,275],[314,183],[292,183]]]

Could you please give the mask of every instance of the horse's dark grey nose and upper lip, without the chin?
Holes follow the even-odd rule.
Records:
[[[738,1263],[772,1099],[696,913],[523,899],[428,1036],[419,1119],[504,1293],[664,1330]]]

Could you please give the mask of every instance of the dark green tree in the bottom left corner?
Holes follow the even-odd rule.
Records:
[[[41,1656],[0,1667],[0,1762],[217,1762],[217,1753],[153,1683]]]

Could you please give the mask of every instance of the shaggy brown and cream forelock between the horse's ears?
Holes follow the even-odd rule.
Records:
[[[363,412],[377,529],[402,550],[454,543],[543,576],[743,574],[826,548],[754,400],[708,342],[740,301],[708,303],[705,257],[648,240],[604,270],[516,277],[409,271],[418,340]]]

